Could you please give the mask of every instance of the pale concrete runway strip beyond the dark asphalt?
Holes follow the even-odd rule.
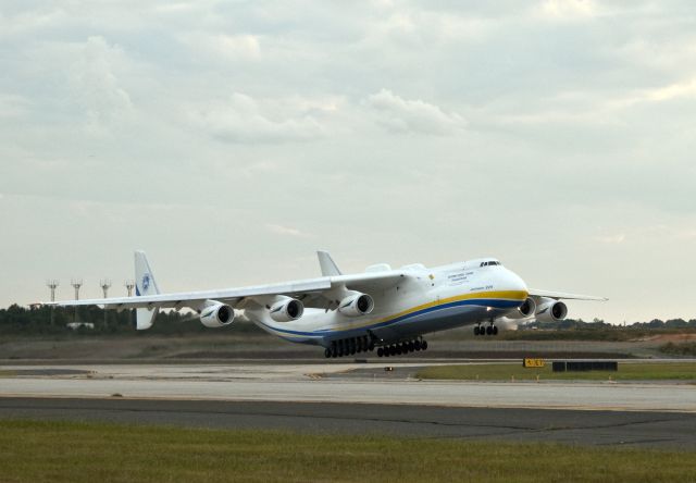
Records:
[[[65,374],[45,376],[39,367],[3,367],[15,376],[0,380],[0,395],[696,412],[691,384],[418,381],[417,367],[395,367],[373,364],[370,374],[366,364],[52,366],[45,370]],[[362,376],[346,372],[357,369]]]

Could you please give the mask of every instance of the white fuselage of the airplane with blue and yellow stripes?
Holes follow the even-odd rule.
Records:
[[[365,335],[397,343],[493,321],[515,312],[527,298],[522,278],[494,259],[433,269],[412,265],[403,271],[410,276],[400,283],[370,292],[374,310],[369,314],[347,317],[338,310],[307,308],[296,321],[275,322],[264,307],[250,307],[245,313],[260,327],[284,339],[330,347],[336,340]],[[332,282],[340,282],[340,275],[332,277]]]

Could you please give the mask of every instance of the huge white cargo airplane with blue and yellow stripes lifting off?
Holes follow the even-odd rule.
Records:
[[[192,309],[207,327],[229,325],[235,314],[243,314],[286,340],[321,346],[330,358],[375,349],[380,357],[425,350],[423,335],[462,325],[473,325],[475,335],[494,336],[498,327],[566,318],[561,299],[607,300],[527,288],[494,258],[431,269],[411,264],[393,270],[382,263],[344,275],[326,251],[318,256],[319,278],[162,294],[145,252],[136,251],[135,297],[46,305],[137,309],[138,330],[151,327],[160,309]]]

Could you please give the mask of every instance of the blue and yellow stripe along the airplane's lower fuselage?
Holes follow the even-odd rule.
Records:
[[[401,312],[390,314],[387,317],[373,319],[373,320],[360,320],[356,322],[348,322],[334,327],[319,329],[315,331],[297,331],[285,327],[278,327],[277,325],[271,326],[263,322],[259,323],[262,329],[282,337],[286,340],[306,344],[318,344],[323,339],[339,339],[343,337],[355,336],[356,332],[366,332],[368,330],[380,330],[384,327],[390,327],[396,324],[409,323],[411,321],[418,321],[427,315],[435,315],[437,312],[449,313],[447,317],[452,317],[451,312],[457,311],[457,308],[469,307],[485,307],[492,308],[496,312],[504,313],[511,309],[519,307],[527,297],[526,292],[521,290],[505,290],[505,292],[480,292],[474,294],[463,294],[455,297],[443,298],[434,300],[428,304],[422,304],[415,307],[411,307]],[[470,310],[467,310],[468,312]],[[483,313],[482,313],[483,314]],[[492,315],[496,315],[494,312]],[[437,317],[428,318],[430,322],[436,322]],[[433,325],[432,332],[437,330],[447,329]]]

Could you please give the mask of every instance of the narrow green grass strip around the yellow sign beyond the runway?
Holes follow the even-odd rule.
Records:
[[[433,366],[422,369],[415,376],[420,379],[451,379],[465,381],[540,381],[550,380],[591,380],[607,381],[696,381],[696,363],[669,362],[669,363],[624,363],[619,362],[619,371],[589,371],[589,372],[552,372],[551,362],[547,361],[545,368],[527,369],[519,363],[502,364],[457,364]]]

